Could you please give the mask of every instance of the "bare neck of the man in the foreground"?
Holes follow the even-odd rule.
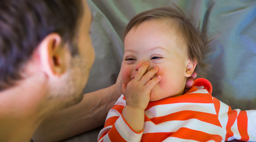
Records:
[[[29,142],[45,117],[47,76],[39,73],[0,92],[0,141]]]

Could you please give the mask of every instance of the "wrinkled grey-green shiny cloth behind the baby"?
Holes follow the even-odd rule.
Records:
[[[174,2],[206,25],[210,39],[206,71],[212,96],[232,109],[256,109],[256,1],[255,0],[88,0],[95,62],[84,93],[116,82],[123,60],[123,31],[136,14]],[[200,77],[200,76],[199,76]],[[65,142],[97,141],[102,128]],[[256,134],[256,132],[255,132]],[[233,142],[236,140],[233,140]]]

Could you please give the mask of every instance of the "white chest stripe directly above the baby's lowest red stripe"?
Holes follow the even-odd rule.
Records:
[[[225,137],[221,127],[200,121],[198,119],[189,119],[185,121],[167,121],[157,125],[151,121],[147,121],[144,122],[143,133],[176,132],[179,130],[179,128],[182,127],[198,130],[208,134],[218,134],[222,137]]]

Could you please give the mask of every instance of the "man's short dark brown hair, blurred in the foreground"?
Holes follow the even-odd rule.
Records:
[[[62,44],[74,44],[82,14],[81,0],[1,0],[0,91],[22,79],[24,64],[50,33],[58,33]],[[77,50],[70,46],[72,55]]]

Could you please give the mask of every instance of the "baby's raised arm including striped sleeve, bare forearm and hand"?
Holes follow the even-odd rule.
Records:
[[[150,80],[158,68],[151,69],[145,75],[149,64],[144,63],[136,76],[127,86],[122,85],[125,100],[119,98],[109,111],[105,126],[99,133],[98,141],[140,141],[144,126],[144,110],[149,103],[151,89],[161,77]]]

